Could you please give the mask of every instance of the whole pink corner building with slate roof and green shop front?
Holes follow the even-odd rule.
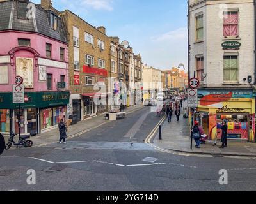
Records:
[[[26,8],[32,14],[28,15]],[[22,12],[22,11],[26,12]],[[28,1],[0,1],[0,132],[41,133],[67,119],[68,47],[57,11]],[[15,76],[24,79],[25,103],[12,103]]]

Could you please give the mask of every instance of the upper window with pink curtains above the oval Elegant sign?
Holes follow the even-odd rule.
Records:
[[[238,12],[224,12],[224,36],[238,36]]]

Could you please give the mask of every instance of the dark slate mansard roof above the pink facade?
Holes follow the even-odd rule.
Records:
[[[30,3],[30,2],[29,2]],[[34,3],[33,3],[34,4]],[[15,30],[44,34],[50,38],[67,43],[67,32],[63,26],[62,18],[58,17],[57,31],[51,29],[49,17],[51,11],[40,8],[35,5],[35,19],[22,20],[18,18],[18,11],[26,10],[26,3],[19,4],[17,0],[4,1],[0,3],[0,31]]]

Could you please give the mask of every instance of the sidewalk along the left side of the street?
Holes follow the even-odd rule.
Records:
[[[125,109],[125,112],[127,112],[127,114],[135,112],[136,110],[140,110],[141,108],[143,108],[143,106],[141,105],[135,105],[135,106],[131,106],[128,107],[127,109]],[[67,136],[68,139],[73,138],[74,136],[80,134],[85,133],[86,131],[90,131],[94,128],[97,128],[99,126],[102,126],[103,124],[106,124],[108,122],[111,122],[109,120],[104,120],[104,115],[98,115],[95,117],[91,117],[89,119],[83,120],[81,122],[77,122],[77,124],[74,124],[72,126],[68,127],[68,132],[67,132]],[[33,140],[33,147],[35,146],[40,146],[40,145],[44,145],[47,143],[52,143],[52,142],[57,142],[60,138],[60,133],[59,133],[59,129],[52,129],[51,131],[47,131],[45,133],[42,133],[40,135],[36,135],[33,138],[31,138],[31,140]],[[8,136],[5,135],[4,136],[4,140],[6,142],[8,142]],[[17,138],[15,138],[15,141],[17,140]]]

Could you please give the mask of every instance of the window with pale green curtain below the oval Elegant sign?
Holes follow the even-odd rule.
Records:
[[[237,82],[238,56],[224,56],[224,81]]]

